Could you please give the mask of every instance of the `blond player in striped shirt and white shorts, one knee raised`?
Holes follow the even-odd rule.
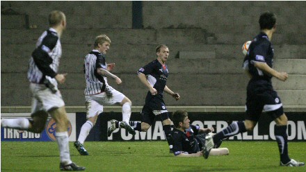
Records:
[[[122,122],[113,120],[117,127],[125,128],[129,133],[135,135],[135,130],[129,126],[131,117],[131,101],[121,92],[113,89],[107,83],[107,78],[112,78],[119,85],[121,79],[111,74],[115,64],[106,64],[105,55],[111,46],[111,40],[106,35],[99,35],[95,38],[95,44],[92,51],[84,59],[84,73],[86,78],[86,88],[84,91],[86,99],[87,121],[81,127],[81,132],[74,146],[81,155],[88,155],[83,144],[90,130],[97,121],[97,117],[103,112],[103,105],[119,104],[122,106]]]

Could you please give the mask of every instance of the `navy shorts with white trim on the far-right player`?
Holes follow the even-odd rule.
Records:
[[[267,112],[273,119],[284,114],[282,101],[277,96],[271,83],[266,80],[250,82],[247,88],[246,117],[250,121],[258,121],[261,112]]]

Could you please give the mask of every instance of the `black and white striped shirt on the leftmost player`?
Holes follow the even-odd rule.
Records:
[[[42,33],[36,43],[29,61],[28,79],[31,83],[44,83],[45,78],[57,85],[55,80],[59,61],[62,55],[62,46],[54,28]]]

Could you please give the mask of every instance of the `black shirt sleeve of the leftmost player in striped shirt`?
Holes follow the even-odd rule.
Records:
[[[56,35],[48,34],[44,40],[42,40],[42,44],[32,53],[33,60],[38,69],[42,71],[42,74],[50,76],[51,78],[56,76],[56,72],[50,67],[53,59],[49,56],[49,53],[54,49],[57,41],[58,37]]]

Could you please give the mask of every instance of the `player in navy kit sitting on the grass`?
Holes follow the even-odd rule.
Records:
[[[200,157],[203,155],[202,146],[205,144],[205,137],[214,128],[200,128],[189,125],[188,113],[184,110],[177,110],[172,114],[172,121],[175,128],[172,130],[173,153],[177,157]],[[218,144],[211,149],[209,155],[228,155],[227,148],[218,148]]]

